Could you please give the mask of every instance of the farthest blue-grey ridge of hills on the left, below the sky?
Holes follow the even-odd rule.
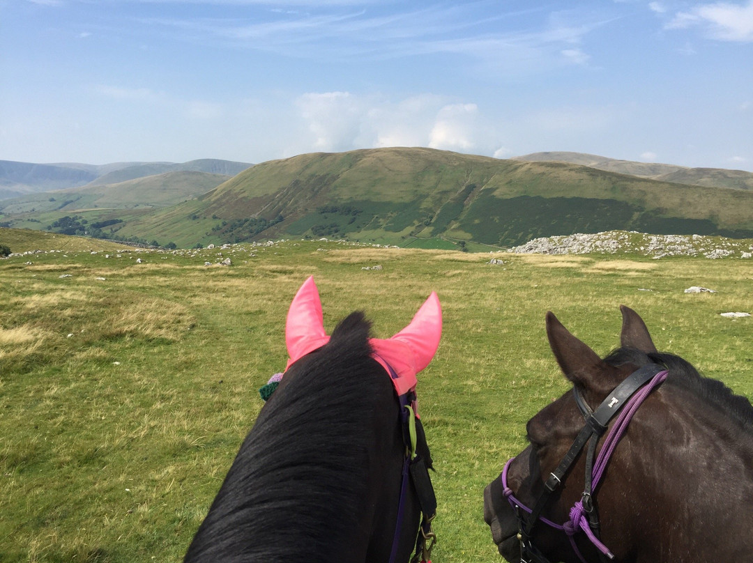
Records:
[[[234,176],[252,166],[230,160],[201,159],[187,163],[35,164],[0,160],[0,199],[63,190],[90,183],[115,184],[166,172],[206,172]]]

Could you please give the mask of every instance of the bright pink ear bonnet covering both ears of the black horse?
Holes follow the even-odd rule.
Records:
[[[416,373],[428,366],[437,352],[442,336],[442,309],[439,297],[432,292],[407,327],[389,339],[372,338],[373,358],[390,373],[398,395],[416,387]],[[288,365],[329,342],[322,316],[322,301],[313,276],[300,286],[288,310],[285,343]]]

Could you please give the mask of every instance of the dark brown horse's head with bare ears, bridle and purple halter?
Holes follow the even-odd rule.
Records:
[[[666,370],[661,365],[665,357],[657,353],[639,315],[620,309],[621,348],[604,360],[547,313],[550,347],[573,387],[529,420],[529,446],[484,491],[484,519],[508,561],[599,561],[599,552],[630,560],[647,520],[636,506],[645,494],[640,487],[649,482],[636,469],[647,463],[637,453],[638,437],[642,426],[651,425],[645,423],[649,403],[660,399],[648,394],[666,378]],[[633,417],[639,394],[645,406],[627,427],[630,418],[624,421],[627,411],[620,408],[632,404]],[[636,422],[639,418],[643,424]],[[625,427],[615,435],[620,420]],[[603,444],[612,439],[614,448],[623,435],[632,435],[633,443],[626,439],[605,451]]]

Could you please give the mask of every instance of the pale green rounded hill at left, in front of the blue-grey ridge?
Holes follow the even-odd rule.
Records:
[[[6,215],[77,212],[90,208],[166,207],[193,199],[230,178],[207,172],[166,172],[117,184],[87,184],[68,190],[34,193],[0,202]]]

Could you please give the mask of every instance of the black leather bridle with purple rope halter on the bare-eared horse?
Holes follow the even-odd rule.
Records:
[[[617,385],[614,391],[602,401],[596,411],[590,409],[581,396],[581,392],[578,391],[578,387],[574,387],[575,403],[578,404],[578,409],[581,410],[586,424],[581,429],[578,437],[575,438],[565,457],[562,458],[556,469],[550,473],[547,481],[544,483],[544,490],[541,491],[541,495],[538,496],[536,504],[532,509],[526,507],[525,504],[515,498],[513,491],[508,486],[508,469],[515,458],[508,460],[505,468],[502,470],[501,481],[504,495],[515,510],[518,520],[517,538],[520,540],[521,563],[530,563],[532,561],[535,563],[550,563],[532,542],[533,531],[539,521],[551,528],[564,531],[569,537],[575,554],[578,555],[578,558],[583,563],[587,563],[587,561],[575,543],[575,534],[579,531],[583,531],[591,543],[596,546],[602,560],[614,558],[614,555],[609,551],[607,546],[599,540],[599,515],[594,504],[594,491],[599,484],[599,479],[602,478],[612,453],[614,453],[614,448],[617,446],[620,438],[623,437],[623,434],[625,434],[627,425],[630,423],[636,410],[648,397],[648,394],[666,379],[666,376],[667,371],[665,367],[657,364],[647,364],[631,373],[620,385]],[[596,458],[596,463],[594,464],[593,458],[596,454],[596,444],[607,430],[609,421],[617,415],[617,412],[620,412],[620,415],[607,434],[604,445],[599,451],[598,458]],[[591,440],[592,438],[593,440]],[[559,488],[562,481],[565,480],[567,473],[569,473],[570,468],[575,463],[575,459],[587,443],[589,443],[589,446],[586,453],[586,475],[581,500],[576,502],[570,509],[570,519],[568,522],[562,525],[551,522],[549,519],[541,516],[541,513],[551,495]]]

